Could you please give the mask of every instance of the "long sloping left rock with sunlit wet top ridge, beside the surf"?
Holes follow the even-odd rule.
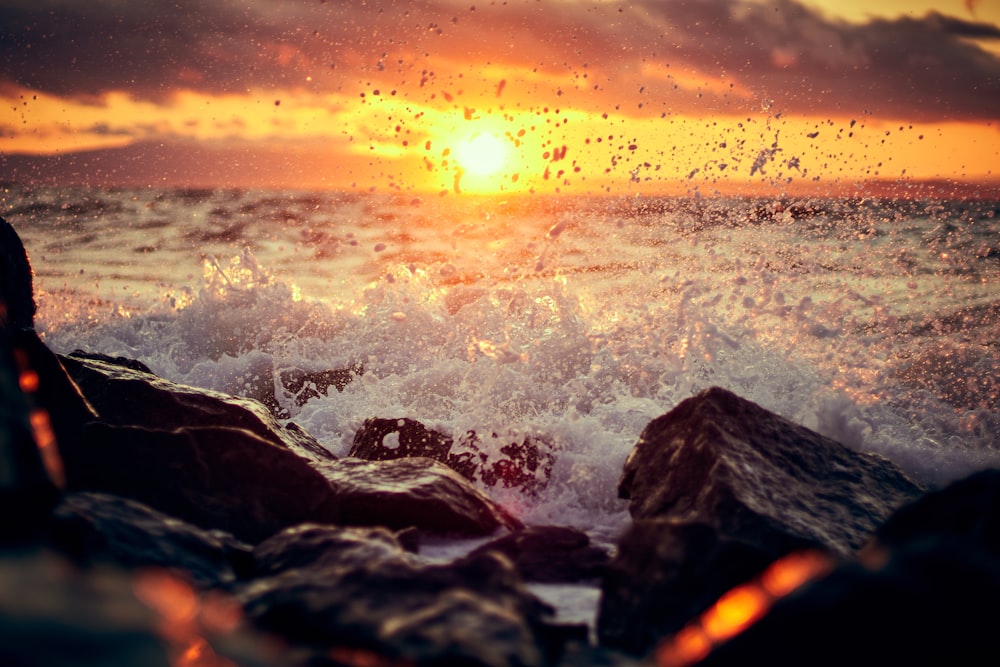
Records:
[[[131,360],[80,351],[60,359],[108,424],[163,430],[239,428],[311,461],[336,458],[301,428],[282,427],[257,401],[170,382]]]

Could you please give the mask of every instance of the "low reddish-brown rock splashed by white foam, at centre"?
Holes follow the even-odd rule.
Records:
[[[505,442],[492,433],[484,442],[474,431],[465,433],[456,443],[414,419],[372,418],[365,420],[354,435],[348,456],[369,461],[425,456],[487,486],[538,493],[552,475],[553,449],[552,442],[538,436]]]

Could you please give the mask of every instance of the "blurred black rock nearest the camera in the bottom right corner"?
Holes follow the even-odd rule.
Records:
[[[800,587],[698,665],[996,665],[998,596],[995,556],[916,540]]]

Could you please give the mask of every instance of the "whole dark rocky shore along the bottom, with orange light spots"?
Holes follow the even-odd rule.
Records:
[[[3,221],[0,244],[0,664],[1000,662],[1000,471],[925,489],[712,388],[637,434],[609,552],[484,492],[541,492],[544,436],[486,448],[372,415],[337,458],[266,391],[53,353]],[[422,553],[464,538],[482,544]],[[599,587],[594,627],[534,583]]]

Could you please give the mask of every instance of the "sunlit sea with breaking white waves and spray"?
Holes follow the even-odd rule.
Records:
[[[540,492],[484,490],[602,544],[645,425],[713,385],[928,486],[1000,465],[1000,200],[8,185],[0,215],[54,350],[237,395],[263,378],[338,456],[369,417],[544,436]],[[275,380],[354,366],[301,405]],[[543,588],[592,614],[593,587]]]

